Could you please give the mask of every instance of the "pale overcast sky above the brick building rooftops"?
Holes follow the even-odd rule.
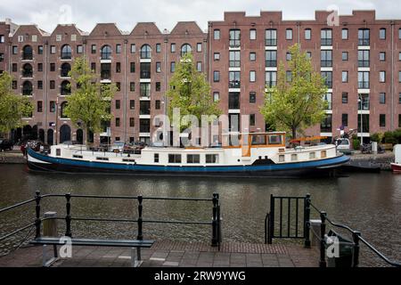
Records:
[[[341,14],[375,9],[378,19],[401,19],[399,0],[12,0],[0,2],[1,20],[37,23],[52,32],[57,23],[76,23],[90,32],[98,22],[115,22],[131,31],[138,21],[154,21],[171,30],[176,21],[196,20],[202,29],[208,20],[223,20],[225,11],[282,11],[285,20],[314,19],[315,10],[336,5]],[[332,10],[332,9],[331,9]]]

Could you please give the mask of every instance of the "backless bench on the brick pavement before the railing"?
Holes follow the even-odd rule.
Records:
[[[50,238],[40,237],[29,242],[34,245],[43,246],[43,266],[47,267],[53,264],[58,259],[57,246],[64,246],[69,244],[71,246],[88,246],[88,247],[122,247],[131,248],[131,265],[139,267],[142,264],[141,248],[151,248],[154,240],[97,240],[97,239],[69,239],[64,238]],[[46,246],[53,245],[53,258],[47,260]],[[136,258],[135,258],[136,248]]]

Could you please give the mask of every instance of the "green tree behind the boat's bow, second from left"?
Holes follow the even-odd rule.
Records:
[[[89,132],[99,133],[102,121],[110,120],[110,102],[117,87],[100,83],[85,57],[74,62],[69,76],[77,83],[77,90],[67,97],[65,114],[75,126],[85,130],[88,142]]]

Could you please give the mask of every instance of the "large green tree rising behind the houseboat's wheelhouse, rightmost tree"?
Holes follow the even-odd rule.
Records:
[[[290,53],[288,69],[291,70],[291,77],[281,63],[277,85],[267,88],[265,103],[260,111],[266,123],[291,131],[292,138],[296,138],[297,131],[322,122],[327,106],[323,100],[327,86],[324,78],[313,70],[307,53],[300,52],[299,45],[292,45]]]

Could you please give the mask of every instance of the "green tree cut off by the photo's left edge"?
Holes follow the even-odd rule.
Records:
[[[7,72],[0,75],[0,133],[10,133],[23,126],[22,118],[32,114],[29,98],[12,92],[12,76]]]

